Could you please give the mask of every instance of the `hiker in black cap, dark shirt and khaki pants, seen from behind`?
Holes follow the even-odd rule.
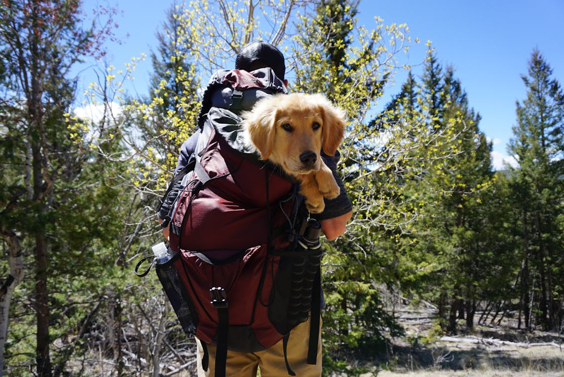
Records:
[[[279,93],[287,93],[288,80],[285,80],[285,62],[283,54],[276,49],[276,47],[265,42],[253,42],[243,47],[237,55],[235,62],[235,69],[245,72],[259,72],[268,76],[271,72],[274,73],[273,80],[268,82],[275,86],[275,90]],[[210,82],[218,80],[218,75],[224,78],[231,74],[227,71],[221,71],[211,78]],[[237,76],[238,72],[235,72]],[[238,77],[238,76],[237,76]],[[235,80],[240,80],[240,78]],[[241,76],[243,77],[243,76]],[[208,89],[210,89],[209,86]],[[230,88],[220,87],[217,90],[206,90],[206,94],[202,99],[202,109],[199,114],[200,130],[196,131],[186,142],[182,144],[180,155],[178,159],[178,166],[175,173],[185,168],[196,150],[201,148],[202,139],[207,142],[207,136],[202,136],[204,128],[202,123],[206,120],[207,112],[210,107],[230,108],[234,112],[249,110],[254,102],[261,96],[265,95],[262,90],[256,90],[252,95],[241,95],[236,93],[236,90]],[[268,95],[268,94],[266,94]],[[234,104],[236,100],[240,103]],[[199,146],[200,141],[200,146]],[[315,219],[319,221],[321,231],[329,240],[336,239],[338,236],[345,233],[347,221],[352,216],[352,204],[346,195],[345,187],[336,173],[337,161],[339,159],[338,151],[334,156],[323,155],[325,163],[332,170],[338,185],[341,188],[341,194],[332,200],[325,201],[325,210],[315,215]],[[182,191],[183,185],[186,182],[175,182],[178,185],[177,194],[169,195],[162,203],[158,217],[165,225],[163,227],[163,234],[165,238],[169,239],[169,222],[170,216],[173,212],[173,206],[176,195]],[[268,187],[268,185],[267,185]],[[267,188],[268,190],[268,188]],[[211,225],[211,224],[210,224]],[[213,224],[217,225],[217,224]],[[258,225],[258,224],[257,224]],[[171,223],[170,226],[174,226]],[[178,228],[178,225],[177,225]],[[249,231],[249,230],[246,230]],[[252,230],[250,230],[252,231]],[[221,231],[218,231],[218,237],[221,237]],[[227,240],[228,242],[228,240]],[[323,303],[321,303],[323,305]],[[177,313],[178,314],[178,313]],[[311,318],[306,322],[302,322],[293,330],[290,331],[289,337],[284,340],[278,341],[276,344],[264,350],[257,352],[235,352],[227,350],[227,359],[225,362],[225,371],[218,371],[217,374],[227,376],[241,376],[241,377],[254,377],[257,374],[257,367],[261,369],[261,376],[284,376],[290,373],[291,370],[297,376],[320,376],[321,375],[321,336],[319,331],[319,339],[317,344],[317,354],[315,357],[315,365],[306,363],[306,354],[308,354],[308,347],[310,347],[310,322]],[[313,321],[319,323],[320,321]],[[218,347],[210,344],[205,344],[201,339],[197,343],[197,371],[198,376],[214,376],[215,373],[215,356]],[[218,351],[219,352],[219,351]],[[286,365],[284,365],[284,360]]]

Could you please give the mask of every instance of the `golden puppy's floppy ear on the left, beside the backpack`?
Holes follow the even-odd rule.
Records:
[[[261,102],[252,111],[245,114],[244,122],[250,141],[260,152],[261,160],[266,160],[274,148],[277,111],[275,107],[265,106],[266,103]]]

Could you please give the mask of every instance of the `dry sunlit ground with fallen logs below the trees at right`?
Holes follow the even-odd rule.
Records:
[[[525,332],[506,318],[499,325],[475,325],[472,332],[462,327],[458,335],[443,336],[431,318],[434,308],[399,305],[394,310],[406,336],[393,339],[385,359],[370,361],[373,372],[362,377],[564,377],[564,334]]]

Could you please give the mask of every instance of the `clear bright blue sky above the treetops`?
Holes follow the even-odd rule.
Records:
[[[108,0],[110,4],[113,2]],[[108,2],[85,0],[86,11]],[[110,46],[109,59],[122,67],[133,56],[149,54],[156,47],[155,34],[165,20],[172,0],[120,0],[122,15],[116,17],[121,45]],[[538,48],[553,69],[553,77],[564,85],[564,0],[361,0],[359,20],[367,27],[380,16],[384,24],[406,23],[413,38],[421,40],[409,52],[409,63],[425,57],[425,42],[430,40],[443,65],[452,65],[470,106],[482,115],[481,130],[494,142],[495,166],[501,166],[506,144],[515,124],[515,101],[523,100],[526,89],[521,74]],[[125,34],[129,34],[125,37]],[[146,93],[148,60],[135,72],[135,89]],[[413,68],[415,76],[421,68]],[[404,75],[396,76],[386,97],[395,94]]]

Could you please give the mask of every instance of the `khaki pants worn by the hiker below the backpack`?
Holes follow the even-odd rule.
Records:
[[[310,320],[300,323],[290,332],[288,339],[287,356],[290,369],[296,372],[296,377],[320,377],[321,376],[321,328],[319,329],[317,363],[309,365],[306,363],[307,349],[310,338]],[[286,363],[284,362],[284,349],[282,341],[272,347],[254,353],[239,353],[227,351],[227,366],[225,375],[227,377],[256,377],[257,368],[261,369],[261,377],[284,377],[288,376]],[[214,377],[215,372],[215,347],[207,345],[209,354],[208,371],[202,369],[202,356],[204,351],[200,340],[198,345],[197,365],[198,377]]]

